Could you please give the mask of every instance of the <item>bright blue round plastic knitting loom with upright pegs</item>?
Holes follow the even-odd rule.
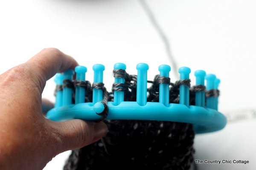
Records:
[[[179,104],[169,103],[169,83],[162,82],[159,85],[159,102],[147,102],[147,71],[148,65],[140,63],[137,65],[137,99],[135,102],[124,101],[124,91],[114,91],[113,102],[107,102],[108,115],[105,119],[134,119],[134,120],[158,120],[185,122],[194,124],[196,133],[207,133],[221,130],[227,123],[226,117],[218,112],[218,95],[205,99],[205,91],[195,93],[195,105],[189,105],[189,87],[180,85]],[[126,65],[116,63],[114,69],[125,70]],[[105,66],[96,64],[93,66],[94,82],[103,82],[103,71]],[[77,66],[76,80],[85,81],[87,68]],[[159,66],[160,77],[169,78],[169,65]],[[187,67],[179,68],[180,80],[189,79],[191,70]],[[73,80],[74,71],[69,69],[63,74],[56,74],[55,82],[63,85],[63,80]],[[215,75],[207,74],[205,71],[195,71],[196,85],[203,85],[206,79],[206,90],[217,90],[219,79]],[[115,77],[115,83],[125,82],[122,77]],[[92,102],[84,102],[85,89],[76,87],[75,104],[72,104],[72,88],[63,87],[57,89],[55,108],[47,113],[47,118],[53,121],[66,121],[70,119],[97,120],[100,113],[106,110],[104,105],[102,89],[93,88]],[[206,101],[206,103],[205,103]]]

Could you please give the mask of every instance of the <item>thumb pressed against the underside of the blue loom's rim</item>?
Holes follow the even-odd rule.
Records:
[[[73,119],[65,122],[51,121],[51,124],[56,154],[92,144],[106,136],[108,132],[108,127],[104,122],[95,123]]]

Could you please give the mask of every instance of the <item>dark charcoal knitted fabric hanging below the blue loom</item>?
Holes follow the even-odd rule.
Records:
[[[106,120],[100,141],[73,150],[64,170],[189,170],[194,161],[192,124]]]

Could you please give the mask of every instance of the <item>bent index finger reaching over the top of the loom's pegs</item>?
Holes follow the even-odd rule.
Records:
[[[56,73],[64,72],[69,68],[75,69],[78,65],[75,59],[56,48],[43,49],[25,64],[29,64],[33,68],[33,72],[37,75],[35,78],[38,78],[38,81],[43,80],[44,82]],[[44,88],[44,85],[41,88]]]

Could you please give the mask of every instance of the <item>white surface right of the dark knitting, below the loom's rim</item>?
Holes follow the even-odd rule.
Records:
[[[195,137],[195,159],[248,160],[249,164],[198,164],[199,170],[254,170],[256,119],[228,124],[223,130]]]

